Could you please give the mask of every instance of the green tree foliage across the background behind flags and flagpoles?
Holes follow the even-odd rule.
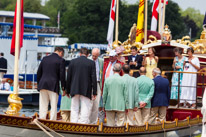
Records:
[[[15,0],[0,0],[0,10],[14,11]],[[24,11],[42,13],[51,18],[47,26],[57,26],[57,14],[61,13],[61,33],[69,38],[69,43],[107,43],[111,0],[50,0],[45,6],[41,0],[24,0]],[[138,3],[130,5],[120,1],[119,40],[128,38],[130,28],[137,22]],[[148,1],[148,30],[150,29],[152,3]],[[199,38],[204,15],[188,8],[182,11],[177,3],[169,0],[165,23],[169,25],[173,39],[189,34]]]

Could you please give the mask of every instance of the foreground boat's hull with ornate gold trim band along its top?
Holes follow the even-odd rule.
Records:
[[[40,123],[65,137],[185,137],[201,134],[202,118],[164,122],[163,124],[143,126],[109,127],[105,125],[77,124],[31,117],[0,115],[1,137],[47,137],[35,123]],[[41,125],[41,126],[42,126]],[[53,133],[54,134],[54,133]],[[54,135],[56,136],[56,135]]]

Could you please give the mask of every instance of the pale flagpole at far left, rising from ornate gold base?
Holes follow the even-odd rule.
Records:
[[[14,62],[14,94],[18,94],[18,75],[19,75],[19,47],[20,47],[20,20],[21,0],[17,0],[17,17],[16,17],[16,39],[15,39],[15,62]],[[14,34],[13,34],[14,35]]]

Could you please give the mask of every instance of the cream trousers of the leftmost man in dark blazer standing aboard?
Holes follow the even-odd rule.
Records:
[[[39,93],[39,118],[46,119],[48,105],[50,101],[50,120],[57,119],[57,102],[59,95],[56,92],[42,89]]]

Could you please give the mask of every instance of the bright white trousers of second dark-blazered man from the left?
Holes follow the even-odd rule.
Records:
[[[79,111],[81,104],[81,112]],[[81,115],[79,115],[81,113]],[[71,119],[72,123],[89,124],[91,114],[91,100],[82,95],[75,95],[71,102]]]

